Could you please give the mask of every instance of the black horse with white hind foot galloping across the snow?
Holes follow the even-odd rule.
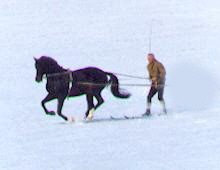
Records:
[[[53,99],[58,99],[57,113],[64,120],[68,118],[62,114],[62,107],[67,97],[86,95],[88,102],[88,111],[85,118],[91,120],[93,112],[104,103],[101,96],[102,90],[111,85],[111,91],[115,97],[129,98],[130,94],[122,93],[119,89],[118,78],[108,72],[104,72],[98,68],[88,67],[76,71],[69,71],[59,66],[58,63],[46,56],[35,59],[35,67],[37,70],[36,81],[41,82],[46,75],[46,89],[48,95],[42,101],[42,107],[47,115],[55,115],[54,111],[48,111],[45,104]],[[108,80],[108,76],[110,79]],[[98,103],[94,105],[94,97]]]

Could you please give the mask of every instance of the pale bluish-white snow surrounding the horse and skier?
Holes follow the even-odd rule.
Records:
[[[0,170],[218,170],[219,6],[218,0],[1,0]],[[45,82],[34,81],[33,56],[52,56],[73,70],[146,76],[151,24],[153,51],[167,68],[168,116],[157,116],[156,100],[149,120],[66,124],[44,114]],[[129,100],[106,89],[95,117],[143,113],[148,88],[126,89]],[[66,101],[63,113],[82,119],[85,110],[79,97]]]

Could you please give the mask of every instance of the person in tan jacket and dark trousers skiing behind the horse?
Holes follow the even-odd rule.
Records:
[[[149,62],[147,69],[149,72],[150,79],[152,81],[152,85],[147,96],[147,110],[143,114],[143,116],[151,115],[151,101],[156,93],[158,93],[158,99],[163,107],[163,112],[166,114],[167,110],[163,98],[166,70],[163,64],[156,60],[155,55],[153,53],[148,54],[147,59]]]

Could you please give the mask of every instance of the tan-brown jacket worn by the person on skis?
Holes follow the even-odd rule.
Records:
[[[150,79],[152,80],[153,84],[164,84],[166,79],[166,70],[162,63],[159,61],[154,61],[147,66]]]

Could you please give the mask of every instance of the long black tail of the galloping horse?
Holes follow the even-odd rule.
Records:
[[[109,84],[111,84],[111,91],[115,97],[127,99],[131,96],[130,93],[122,92],[122,90],[119,88],[118,78],[114,74],[107,72],[106,74],[110,76]]]

